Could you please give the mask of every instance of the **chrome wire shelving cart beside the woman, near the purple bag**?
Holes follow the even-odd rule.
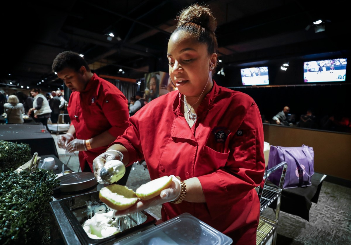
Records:
[[[267,186],[266,181],[268,179],[268,176],[279,168],[283,168],[279,186]],[[261,182],[261,185],[256,188],[258,197],[260,199],[260,213],[262,213],[267,207],[269,207],[269,205],[273,201],[277,200],[277,208],[275,210],[276,217],[274,219],[260,215],[256,234],[256,245],[266,244],[267,241],[272,241],[272,245],[276,244],[280,201],[282,196],[282,186],[285,179],[286,168],[287,163],[281,162],[277,166],[268,169],[263,176],[263,181]]]

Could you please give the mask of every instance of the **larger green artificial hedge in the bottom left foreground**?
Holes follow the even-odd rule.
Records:
[[[50,244],[52,170],[0,169],[0,244]]]

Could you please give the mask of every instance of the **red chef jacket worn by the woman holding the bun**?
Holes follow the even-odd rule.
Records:
[[[254,187],[263,179],[265,162],[256,103],[249,95],[213,82],[192,131],[178,93],[169,92],[137,111],[114,143],[127,148],[130,164],[145,159],[151,179],[173,174],[181,180],[200,180],[206,202],[167,202],[161,209],[163,221],[187,212],[225,234],[258,224],[260,204]],[[255,242],[256,229],[251,233]]]

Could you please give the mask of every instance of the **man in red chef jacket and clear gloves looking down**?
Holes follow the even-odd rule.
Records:
[[[80,169],[93,172],[94,158],[130,125],[128,101],[112,83],[93,73],[78,53],[59,53],[52,71],[72,91],[67,107],[71,125],[58,136],[58,147],[67,153],[79,151]]]

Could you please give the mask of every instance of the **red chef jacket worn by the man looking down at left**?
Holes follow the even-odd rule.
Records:
[[[95,73],[84,91],[72,92],[67,110],[76,137],[82,140],[90,139],[106,130],[117,138],[130,125],[127,98],[116,86]],[[93,160],[104,153],[107,146],[80,151],[80,168],[83,170],[87,161],[93,169]]]

